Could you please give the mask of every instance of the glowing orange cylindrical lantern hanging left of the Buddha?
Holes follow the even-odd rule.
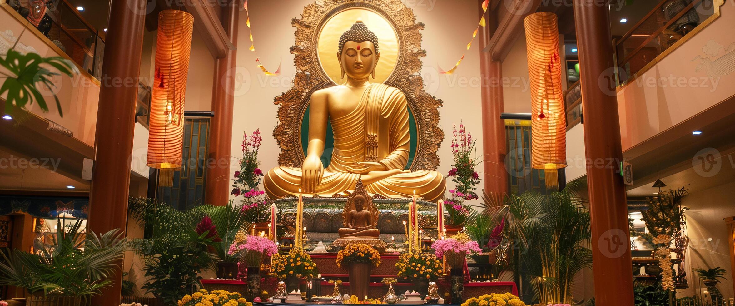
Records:
[[[194,18],[181,10],[164,10],[158,16],[155,81],[148,127],[148,166],[167,169],[182,166],[184,94]]]

